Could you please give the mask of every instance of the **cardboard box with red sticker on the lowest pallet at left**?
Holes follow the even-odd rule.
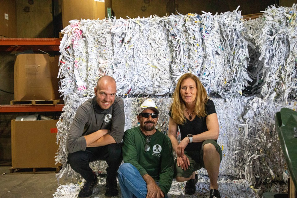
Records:
[[[58,120],[11,120],[11,160],[13,168],[57,167]]]

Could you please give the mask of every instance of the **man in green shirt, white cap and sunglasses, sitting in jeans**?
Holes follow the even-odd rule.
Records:
[[[139,127],[128,129],[123,137],[123,163],[118,182],[123,198],[167,197],[173,179],[171,141],[155,129],[159,111],[152,99],[139,108]]]

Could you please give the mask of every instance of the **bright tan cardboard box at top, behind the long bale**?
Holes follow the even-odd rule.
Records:
[[[73,19],[104,19],[105,3],[96,0],[62,0],[63,28]]]

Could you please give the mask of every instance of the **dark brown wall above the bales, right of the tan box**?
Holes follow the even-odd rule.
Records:
[[[110,0],[105,1],[105,4],[110,2],[113,15],[116,18],[122,17],[130,18],[135,17],[149,17],[150,15],[165,16],[173,14],[187,14],[197,13],[202,14],[201,11],[211,12],[226,12],[233,11],[240,6],[239,10],[242,10],[242,15],[260,13],[264,11],[267,6],[272,4],[278,4],[276,0]],[[293,3],[292,3],[293,4]],[[292,6],[291,4],[291,6]]]

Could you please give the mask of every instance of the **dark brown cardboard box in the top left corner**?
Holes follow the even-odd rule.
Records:
[[[16,2],[1,0],[0,5],[0,36],[16,38]]]

